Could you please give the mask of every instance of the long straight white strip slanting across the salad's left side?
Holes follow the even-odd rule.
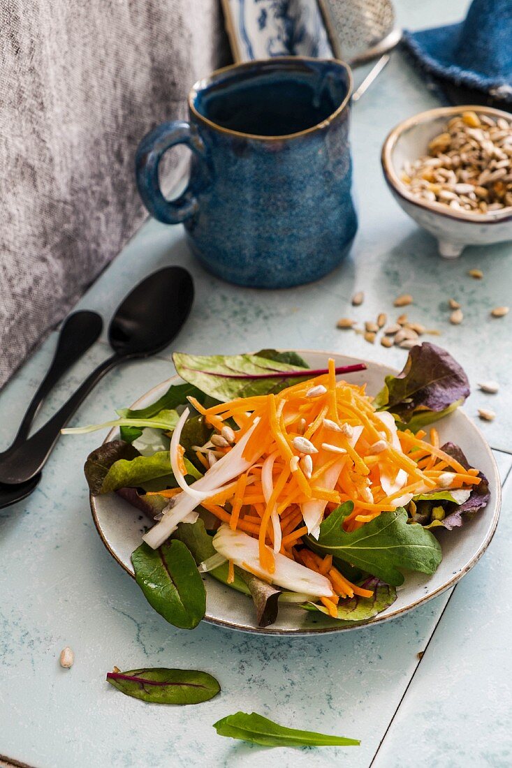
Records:
[[[230,452],[224,454],[222,458],[219,458],[218,462],[216,462],[213,467],[209,468],[208,472],[205,472],[200,480],[196,480],[189,485],[189,490],[192,489],[193,491],[200,492],[208,491],[207,496],[213,496],[223,485],[226,485],[234,478],[237,478],[242,472],[247,472],[248,468],[250,468],[254,462],[248,462],[246,458],[242,457],[242,453],[244,452],[245,446],[251,438],[257,423],[258,419],[254,419],[254,424],[251,426],[251,429],[248,429],[240,442],[234,445]],[[261,452],[263,452],[263,449],[261,449]],[[260,458],[259,455],[255,457],[254,461],[258,458]],[[185,492],[175,496],[173,501],[174,504],[172,506],[169,505],[165,508],[164,516],[161,518],[161,521],[159,521],[157,525],[154,525],[153,528],[142,537],[146,544],[153,549],[158,549],[158,547],[164,543],[165,539],[176,530],[178,523],[183,521],[200,503],[197,498],[192,498],[190,494]]]

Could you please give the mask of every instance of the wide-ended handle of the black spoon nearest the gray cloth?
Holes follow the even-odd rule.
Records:
[[[65,319],[58,336],[52,365],[49,367],[37,392],[35,392],[22,423],[19,425],[18,433],[12,445],[7,449],[8,452],[17,448],[20,443],[25,442],[43,400],[45,400],[58,380],[71,368],[73,363],[80,359],[89,347],[95,343],[102,327],[103,321],[101,316],[97,312],[89,312],[88,310],[75,312]]]

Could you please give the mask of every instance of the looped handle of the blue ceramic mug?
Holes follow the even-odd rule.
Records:
[[[158,178],[158,166],[165,152],[176,144],[186,144],[201,161],[201,173],[180,197],[166,200],[162,194]],[[208,170],[206,151],[198,132],[189,123],[176,120],[158,125],[150,131],[138,145],[135,154],[135,174],[138,192],[151,216],[165,224],[179,224],[190,219],[199,209],[195,192],[203,184],[204,172]]]

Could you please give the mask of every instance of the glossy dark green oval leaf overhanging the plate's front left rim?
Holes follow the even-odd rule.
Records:
[[[197,627],[206,611],[206,591],[194,558],[182,541],[158,549],[141,544],[131,554],[135,581],[145,598],[169,624]]]

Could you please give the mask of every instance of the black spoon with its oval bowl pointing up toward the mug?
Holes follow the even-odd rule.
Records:
[[[28,495],[27,482],[34,482],[41,472],[61,429],[95,384],[120,362],[149,357],[165,349],[185,323],[193,300],[192,278],[181,266],[165,267],[139,283],[118,307],[108,328],[114,355],[88,376],[80,389],[35,435],[4,459],[0,458],[0,483],[22,484],[19,498]],[[8,503],[17,501],[13,496]]]

